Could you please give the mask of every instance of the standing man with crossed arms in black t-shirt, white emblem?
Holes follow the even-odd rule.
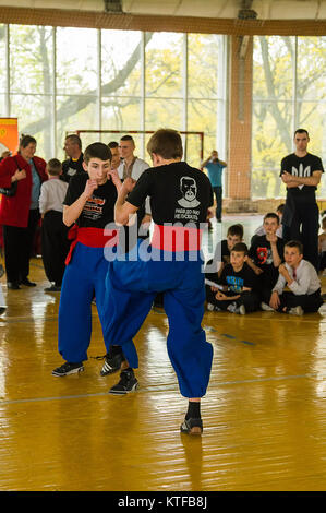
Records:
[[[282,225],[285,242],[300,240],[304,259],[318,271],[319,211],[315,191],[324,168],[319,157],[307,153],[309,142],[306,130],[295,130],[295,152],[281,162],[280,177],[287,186]]]

